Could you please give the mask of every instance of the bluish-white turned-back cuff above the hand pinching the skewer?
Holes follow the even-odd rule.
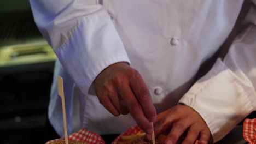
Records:
[[[113,63],[130,64],[130,61],[104,8],[97,14],[78,19],[76,25],[73,23],[73,28],[61,31],[61,44],[54,47],[54,51],[80,91],[88,94],[89,87],[103,69]]]

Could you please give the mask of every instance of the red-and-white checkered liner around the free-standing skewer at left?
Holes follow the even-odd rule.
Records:
[[[81,130],[77,131],[76,133],[69,135],[68,139],[69,140],[79,140],[79,141],[83,141],[88,144],[92,144],[92,143],[104,144],[105,143],[100,135],[98,135],[92,131],[86,130],[86,129],[81,129]],[[45,144],[50,144],[53,141],[60,141],[60,140],[64,140],[64,138],[50,140],[50,141],[46,142]]]

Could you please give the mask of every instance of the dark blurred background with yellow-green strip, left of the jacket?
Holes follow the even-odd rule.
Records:
[[[28,0],[0,1],[0,143],[45,143],[56,56],[38,31]]]

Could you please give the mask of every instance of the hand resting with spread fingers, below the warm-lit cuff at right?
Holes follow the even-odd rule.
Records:
[[[195,110],[187,105],[178,104],[158,115],[154,124],[155,135],[168,132],[165,143],[175,144],[186,131],[182,144],[207,144],[210,139],[210,129]]]

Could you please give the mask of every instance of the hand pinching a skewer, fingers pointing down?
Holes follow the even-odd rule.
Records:
[[[156,119],[155,107],[142,76],[126,62],[104,69],[94,80],[100,103],[114,116],[131,113],[146,133],[153,131],[150,122]]]

